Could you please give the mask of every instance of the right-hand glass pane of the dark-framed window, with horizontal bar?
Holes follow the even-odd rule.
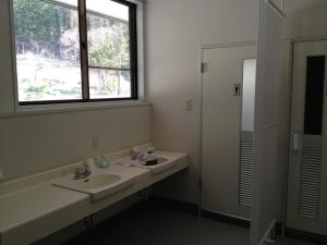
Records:
[[[86,0],[86,10],[90,99],[132,97],[129,7]]]

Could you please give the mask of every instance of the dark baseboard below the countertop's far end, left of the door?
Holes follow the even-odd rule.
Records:
[[[183,200],[171,199],[158,195],[150,195],[148,197],[150,204],[168,208],[170,210],[182,211],[196,216],[198,213],[198,206]]]

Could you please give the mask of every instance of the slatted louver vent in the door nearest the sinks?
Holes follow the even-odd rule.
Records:
[[[253,193],[253,143],[241,142],[239,204],[251,207]]]

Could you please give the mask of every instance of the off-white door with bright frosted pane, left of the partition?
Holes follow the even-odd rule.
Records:
[[[252,195],[255,57],[254,46],[203,51],[202,208],[246,219]]]

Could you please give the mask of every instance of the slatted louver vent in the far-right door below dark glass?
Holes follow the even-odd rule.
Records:
[[[303,148],[300,167],[299,216],[317,219],[319,217],[322,185],[322,150]]]

